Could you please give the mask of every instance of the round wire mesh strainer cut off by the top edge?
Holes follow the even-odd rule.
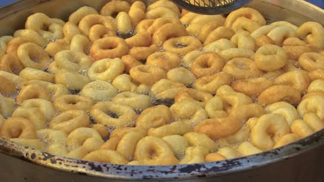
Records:
[[[182,8],[199,14],[226,14],[251,0],[172,0]]]

